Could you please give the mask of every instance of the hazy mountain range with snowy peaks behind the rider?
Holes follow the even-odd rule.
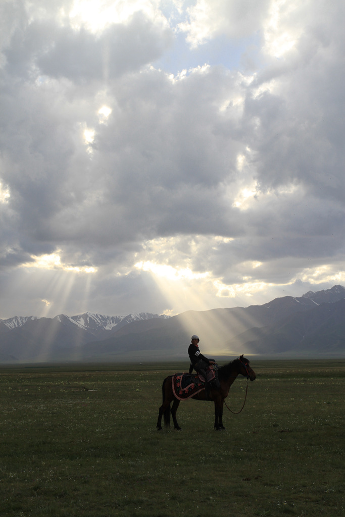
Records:
[[[345,287],[285,296],[246,308],[0,320],[0,362],[186,359],[197,333],[208,357],[345,356]]]

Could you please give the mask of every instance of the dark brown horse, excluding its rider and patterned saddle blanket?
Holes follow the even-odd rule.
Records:
[[[215,429],[217,431],[224,430],[223,425],[223,403],[224,400],[228,397],[229,389],[232,383],[235,381],[235,378],[238,374],[244,375],[249,378],[250,381],[254,381],[256,379],[255,372],[251,369],[249,365],[248,359],[245,357],[239,356],[237,359],[225,364],[218,368],[218,379],[220,387],[211,387],[209,398],[206,395],[206,390],[203,388],[199,393],[192,396],[192,399],[196,400],[211,400],[215,404]],[[176,374],[174,374],[176,375]],[[170,413],[173,418],[174,428],[176,431],[181,431],[181,427],[179,427],[176,420],[176,412],[180,401],[174,396],[173,393],[173,377],[174,375],[169,375],[166,377],[162,384],[162,394],[163,394],[163,403],[159,408],[158,420],[157,420],[157,430],[162,430],[162,416],[164,416],[164,425],[169,427],[170,425]],[[173,402],[172,407],[170,408],[170,404]]]

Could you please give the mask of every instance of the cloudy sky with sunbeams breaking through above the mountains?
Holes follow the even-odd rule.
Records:
[[[2,0],[0,318],[345,285],[341,0]]]

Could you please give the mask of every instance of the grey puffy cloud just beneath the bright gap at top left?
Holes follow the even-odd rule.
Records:
[[[76,83],[111,81],[158,59],[171,41],[171,31],[156,27],[139,12],[127,25],[112,24],[99,36],[83,27],[58,29],[37,64],[49,77]]]

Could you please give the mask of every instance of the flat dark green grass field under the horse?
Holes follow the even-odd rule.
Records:
[[[191,400],[157,432],[163,378],[186,368],[1,368],[1,517],[345,514],[344,359],[254,360],[227,431]]]

